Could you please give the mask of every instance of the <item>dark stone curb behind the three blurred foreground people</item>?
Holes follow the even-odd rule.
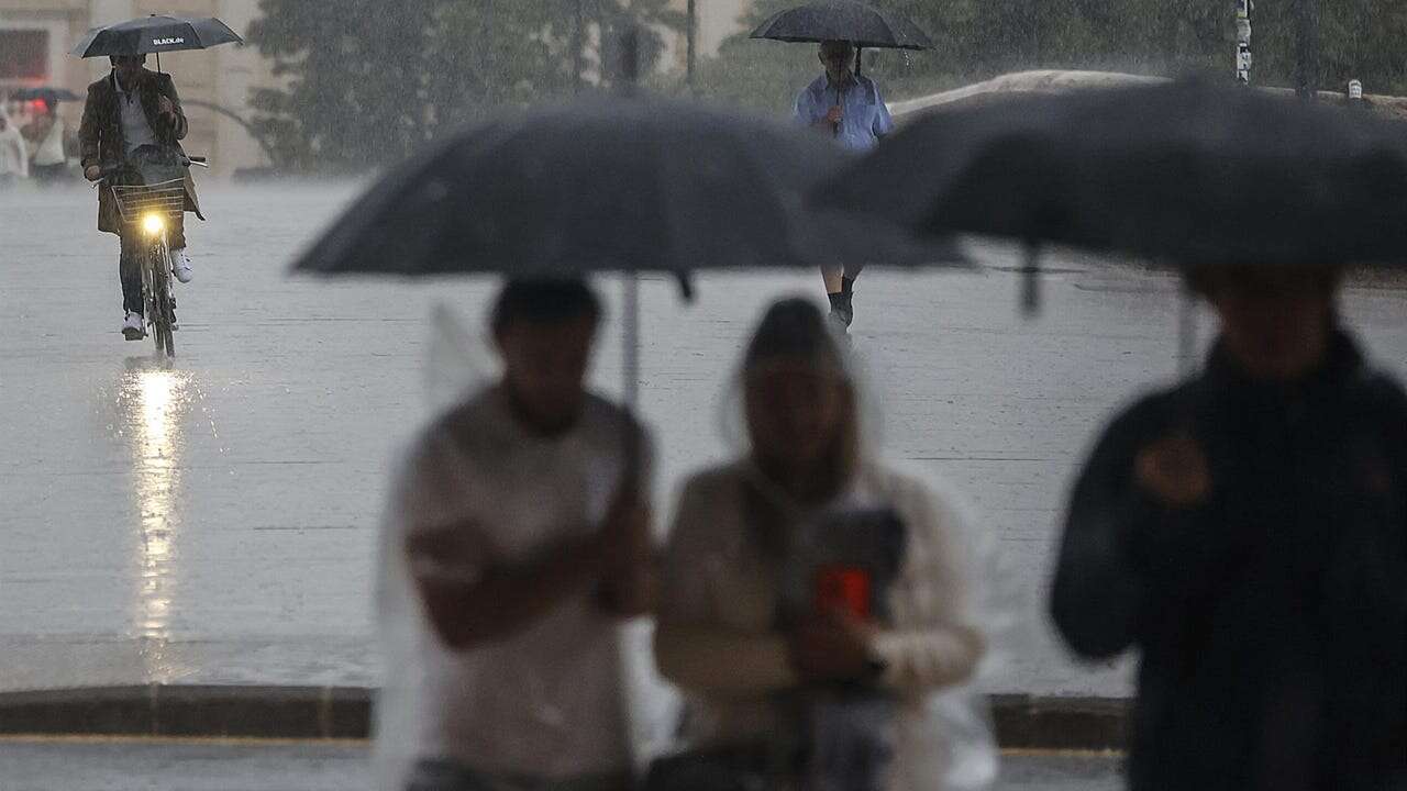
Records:
[[[366,739],[364,687],[135,685],[0,692],[0,735]],[[992,695],[1007,749],[1119,750],[1128,700]]]

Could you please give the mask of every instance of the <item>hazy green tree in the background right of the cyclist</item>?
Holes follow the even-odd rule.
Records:
[[[577,4],[588,30],[578,38]],[[654,63],[660,28],[681,27],[668,0],[260,0],[248,39],[281,89],[256,90],[256,127],[280,169],[357,172],[409,156],[447,129],[575,83],[574,41],[590,80],[616,70],[611,42],[639,20]],[[608,46],[602,46],[606,42]]]

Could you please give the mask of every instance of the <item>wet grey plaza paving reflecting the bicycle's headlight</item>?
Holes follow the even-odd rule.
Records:
[[[93,231],[91,193],[0,194],[0,688],[374,683],[387,470],[428,390],[446,391],[426,384],[428,317],[443,301],[480,327],[492,283],[290,279],[293,252],[353,194],[207,186],[172,366],[117,334],[117,243]],[[964,490],[998,550],[985,576],[1003,581],[1012,624],[983,684],[1123,694],[1127,666],[1072,663],[1040,600],[1079,455],[1112,410],[1178,369],[1176,283],[1052,258],[1044,314],[1024,321],[1017,258],[978,253],[975,272],[860,280],[853,335],[884,448]],[[691,307],[646,281],[642,398],[661,434],[661,502],[729,448],[719,396],[760,310],[817,280],[704,276]],[[1351,289],[1346,304],[1403,373],[1403,284]],[[604,339],[595,377],[615,391],[613,324]]]

